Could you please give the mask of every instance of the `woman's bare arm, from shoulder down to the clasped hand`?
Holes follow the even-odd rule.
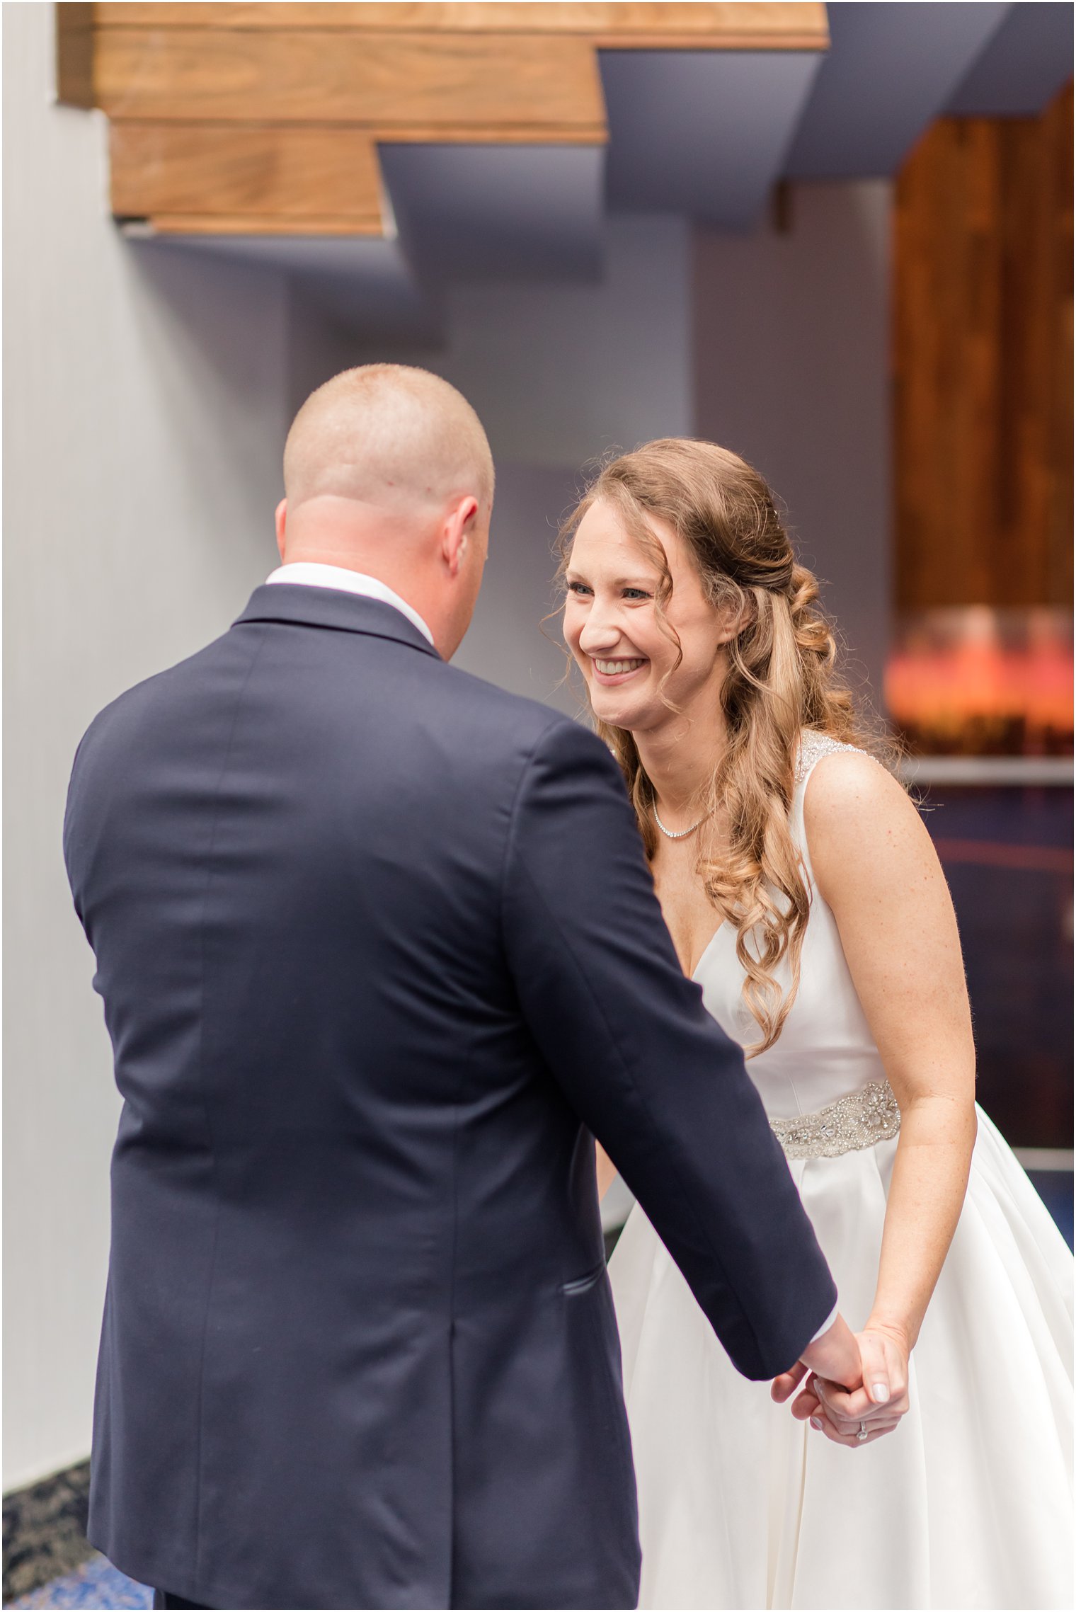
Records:
[[[878,1286],[863,1327],[875,1340],[863,1362],[868,1391],[875,1349],[907,1361],[915,1346],[960,1219],[976,1133],[971,1012],[946,879],[900,785],[867,756],[826,756],[807,785],[804,827],[818,891],[900,1104]]]

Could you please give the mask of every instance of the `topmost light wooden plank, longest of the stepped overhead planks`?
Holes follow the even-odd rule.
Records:
[[[830,44],[825,5],[813,0],[741,0],[741,3],[528,5],[437,3],[121,3],[97,5],[98,27],[192,29],[374,29],[387,32],[583,34],[594,44],[649,50],[686,45],[696,50],[825,50]]]

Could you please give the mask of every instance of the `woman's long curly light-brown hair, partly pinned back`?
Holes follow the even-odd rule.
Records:
[[[726,645],[722,685],[728,750],[697,803],[701,811],[723,811],[728,846],[720,861],[701,854],[697,874],[722,920],[736,925],[744,1001],[762,1032],[749,1048],[752,1056],[773,1046],[799,990],[810,893],[788,819],[801,729],[875,754],[883,746],[838,679],[838,646],[815,606],[818,582],[797,564],[773,493],[751,464],[712,442],[686,437],[648,442],[612,459],[561,529],[561,580],[575,529],[594,503],[620,514],[660,572],[654,609],[678,651],[667,679],[683,651],[665,616],[672,575],[652,517],[667,521],[688,545],[714,608],[741,622]],[[620,762],[652,858],[654,787],[635,738],[601,721],[598,732]],[[776,980],[781,959],[789,964],[788,991]]]

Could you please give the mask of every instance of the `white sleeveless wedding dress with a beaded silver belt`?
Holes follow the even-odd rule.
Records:
[[[807,777],[841,748],[804,735],[791,829],[809,875]],[[728,924],[694,977],[722,1028],[755,1040]],[[797,999],[747,1069],[841,1311],[862,1327],[899,1114],[817,891]],[[735,1372],[638,1206],[609,1269],[639,1486],[639,1606],[1073,1606],[1071,1256],[986,1114],[912,1354],[912,1409],[863,1449],[831,1444]]]

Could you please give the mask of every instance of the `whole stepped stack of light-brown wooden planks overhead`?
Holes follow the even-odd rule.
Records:
[[[379,142],[604,145],[599,48],[828,47],[760,3],[56,6],[58,90],[113,126],[113,213],[158,229],[382,231]]]

